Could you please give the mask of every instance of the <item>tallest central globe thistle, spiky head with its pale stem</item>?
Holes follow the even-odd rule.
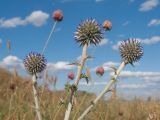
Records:
[[[80,66],[78,66],[77,75],[76,75],[75,82],[73,85],[77,87],[81,79],[82,69],[87,59],[88,45],[99,44],[103,38],[103,33],[101,31],[101,27],[99,26],[98,22],[95,19],[90,19],[90,20],[87,19],[78,26],[77,31],[75,32],[74,38],[76,42],[79,43],[80,46],[83,47],[81,60],[79,63]],[[69,104],[68,104],[68,107],[65,113],[64,120],[69,120],[72,105],[73,105],[74,93],[75,93],[75,90],[71,90],[70,101],[69,101]]]

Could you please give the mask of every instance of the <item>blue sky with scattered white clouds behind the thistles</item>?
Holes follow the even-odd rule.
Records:
[[[120,41],[136,38],[142,42],[144,56],[135,67],[128,65],[118,83],[119,94],[160,97],[160,0],[1,0],[0,1],[0,65],[16,66],[24,71],[22,60],[30,51],[41,52],[54,24],[52,12],[61,9],[62,22],[45,51],[51,75],[57,75],[57,88],[62,89],[68,71],[76,68],[66,63],[78,59],[81,47],[74,40],[76,27],[82,20],[95,18],[99,24],[108,19],[113,28],[105,32],[100,46],[91,46],[88,53],[94,52],[94,60],[87,62],[92,71],[95,85],[90,91],[98,93],[112,71],[109,66],[121,62],[117,46]],[[8,54],[6,41],[11,41],[11,54]],[[103,66],[106,74],[99,78],[94,71]],[[24,72],[22,72],[24,74]],[[88,89],[82,80],[80,89]]]

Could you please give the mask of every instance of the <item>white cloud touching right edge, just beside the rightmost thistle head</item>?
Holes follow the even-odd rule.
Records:
[[[145,38],[145,39],[137,38],[137,39],[140,40],[141,43],[145,45],[151,45],[160,42],[160,36],[152,36],[151,38]]]

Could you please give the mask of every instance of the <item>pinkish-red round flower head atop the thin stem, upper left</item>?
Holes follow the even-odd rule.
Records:
[[[62,13],[62,11],[61,10],[54,11],[53,12],[53,19],[55,21],[58,21],[58,22],[62,21],[63,20],[63,13]]]

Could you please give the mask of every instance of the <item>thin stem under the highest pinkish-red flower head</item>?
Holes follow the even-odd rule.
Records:
[[[43,50],[42,50],[42,55],[44,54],[44,52],[45,52],[45,50],[46,50],[46,48],[47,48],[47,46],[48,46],[48,43],[49,43],[49,40],[50,40],[52,34],[53,34],[54,31],[56,30],[56,25],[57,25],[57,23],[58,23],[58,21],[55,21],[55,23],[53,24],[53,27],[52,27],[52,29],[51,29],[51,32],[50,32],[49,36],[48,36],[48,39],[46,40],[46,42],[45,42],[45,44],[44,44],[44,47],[43,47]]]

